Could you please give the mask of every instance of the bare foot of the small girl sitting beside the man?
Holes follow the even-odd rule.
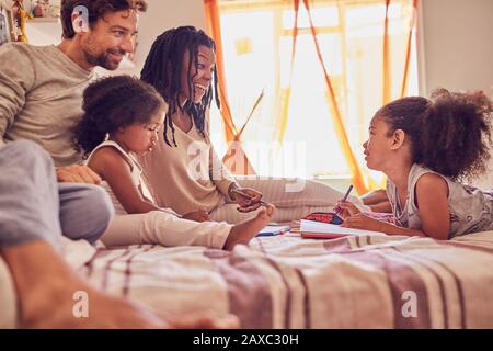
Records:
[[[255,217],[232,227],[226,240],[225,249],[232,250],[238,244],[248,245],[250,239],[271,222],[274,212],[274,205],[267,204]]]

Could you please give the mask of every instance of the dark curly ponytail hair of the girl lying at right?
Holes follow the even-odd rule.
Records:
[[[437,89],[431,100],[395,100],[380,109],[389,136],[402,129],[411,139],[412,161],[450,178],[472,181],[484,173],[493,146],[492,102],[482,92]]]

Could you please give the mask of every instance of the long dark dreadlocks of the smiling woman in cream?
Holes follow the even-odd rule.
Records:
[[[172,141],[176,147],[174,138],[173,114],[180,111],[188,113],[193,120],[198,132],[204,136],[205,127],[205,112],[210,107],[213,95],[215,97],[216,105],[220,109],[220,102],[217,94],[217,70],[214,68],[211,89],[202,98],[199,103],[194,103],[188,99],[182,106],[180,103],[180,93],[185,89],[182,87],[182,70],[185,53],[188,53],[188,97],[195,95],[195,87],[192,83],[192,71],[196,71],[198,65],[198,47],[206,46],[216,52],[216,44],[202,30],[193,26],[180,26],[168,30],[162,33],[152,44],[146,64],[140,72],[140,79],[153,86],[156,90],[164,98],[169,109],[164,118],[164,141],[172,146],[168,140],[168,128],[171,129]],[[194,66],[195,67],[194,67]]]

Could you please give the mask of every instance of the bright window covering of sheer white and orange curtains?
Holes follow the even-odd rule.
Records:
[[[213,111],[217,148],[241,141],[261,176],[381,186],[362,144],[383,103],[417,93],[416,1],[206,0],[228,105]]]

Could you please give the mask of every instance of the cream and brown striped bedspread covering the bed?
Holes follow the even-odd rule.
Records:
[[[229,312],[244,328],[493,328],[493,231],[99,249],[80,271],[159,310]]]

